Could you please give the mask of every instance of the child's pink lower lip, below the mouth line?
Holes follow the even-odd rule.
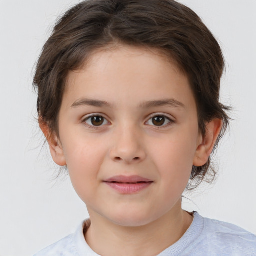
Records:
[[[104,182],[111,188],[117,190],[121,194],[133,194],[137,193],[148,186],[152,184],[151,182],[141,182],[141,183],[134,183],[134,184],[129,184],[129,183],[117,183],[117,182]]]

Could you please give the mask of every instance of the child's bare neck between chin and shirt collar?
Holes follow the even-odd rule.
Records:
[[[171,211],[143,226],[121,226],[95,214],[90,219],[85,239],[99,255],[151,256],[178,241],[193,217],[181,209],[180,201]]]

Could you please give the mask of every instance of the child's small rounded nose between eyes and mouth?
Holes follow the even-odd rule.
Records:
[[[146,152],[143,145],[143,136],[132,127],[123,127],[113,134],[110,158],[115,162],[126,164],[138,163],[145,159]]]

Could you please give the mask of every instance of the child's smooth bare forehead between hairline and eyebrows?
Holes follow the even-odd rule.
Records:
[[[118,96],[118,97],[117,97]],[[113,103],[178,97],[193,100],[187,76],[162,52],[120,45],[93,52],[70,71],[63,100],[104,98]]]

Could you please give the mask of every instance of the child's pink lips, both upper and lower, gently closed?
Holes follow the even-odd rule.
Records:
[[[153,183],[152,180],[137,175],[114,176],[104,180],[103,182],[121,194],[139,192]]]

